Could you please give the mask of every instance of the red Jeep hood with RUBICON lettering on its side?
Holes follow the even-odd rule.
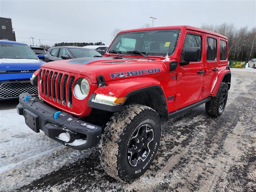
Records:
[[[135,76],[160,74],[165,71],[161,60],[113,59],[111,57],[59,60],[45,63],[42,67],[82,74],[88,76],[92,83],[97,83],[99,75],[104,76],[105,81],[108,82]]]

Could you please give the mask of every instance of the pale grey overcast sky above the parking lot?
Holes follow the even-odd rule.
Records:
[[[16,41],[111,43],[114,28],[234,23],[256,25],[256,1],[0,1],[0,16],[12,19]]]

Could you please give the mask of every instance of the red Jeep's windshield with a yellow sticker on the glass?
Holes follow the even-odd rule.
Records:
[[[175,51],[180,29],[163,29],[119,33],[108,51],[116,50],[125,55],[130,51],[146,52],[147,56],[168,56]],[[128,51],[128,53],[127,53]],[[138,55],[138,54],[136,54]]]

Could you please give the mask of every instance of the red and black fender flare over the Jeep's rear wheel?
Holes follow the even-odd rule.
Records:
[[[231,83],[231,72],[230,72],[230,70],[222,70],[218,73],[218,75],[216,76],[216,78],[213,82],[210,96],[214,97],[217,94],[221,82],[227,83],[228,84],[228,89],[230,89],[230,83]]]

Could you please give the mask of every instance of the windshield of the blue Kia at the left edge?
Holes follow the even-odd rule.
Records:
[[[35,53],[28,45],[0,43],[0,58],[3,59],[36,59]]]

